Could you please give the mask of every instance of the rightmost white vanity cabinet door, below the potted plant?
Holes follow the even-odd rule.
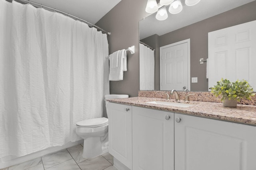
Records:
[[[255,170],[256,127],[175,113],[176,170]]]

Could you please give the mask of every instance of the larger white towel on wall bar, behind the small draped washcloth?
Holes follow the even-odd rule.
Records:
[[[111,63],[112,61],[110,61]],[[109,69],[109,80],[110,81],[118,81],[123,80],[124,71],[127,70],[127,60],[126,60],[126,51],[120,50],[118,51],[118,66],[116,68],[112,68],[110,66]]]

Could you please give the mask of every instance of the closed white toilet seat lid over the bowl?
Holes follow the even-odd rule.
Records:
[[[108,118],[106,117],[100,117],[100,118],[94,118],[94,119],[86,119],[83,121],[79,121],[76,123],[78,126],[82,127],[99,127],[108,124]]]

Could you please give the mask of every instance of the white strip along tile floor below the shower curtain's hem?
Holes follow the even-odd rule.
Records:
[[[57,152],[57,151],[62,150],[62,149],[73,147],[73,146],[81,144],[83,142],[84,142],[84,140],[80,140],[80,141],[76,141],[76,142],[70,142],[70,143],[67,143],[66,145],[63,145],[61,147],[50,147],[50,148],[40,150],[40,151],[35,152],[35,153],[27,154],[25,156],[19,156],[19,157],[18,156],[12,156],[12,155],[5,156],[3,158],[0,158],[0,169],[7,168],[9,166],[13,166],[13,165],[16,165],[16,164],[20,164],[20,163],[23,163],[23,162],[26,162],[28,160],[32,160],[32,159],[35,159],[35,158],[39,158],[39,157],[44,156],[46,154]]]

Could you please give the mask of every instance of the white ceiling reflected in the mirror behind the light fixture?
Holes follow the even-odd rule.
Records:
[[[155,13],[140,21],[140,39],[154,34],[163,35],[252,1],[254,0],[201,0],[195,6],[183,6],[179,14],[170,14],[166,8],[168,13],[166,20],[156,20]]]

